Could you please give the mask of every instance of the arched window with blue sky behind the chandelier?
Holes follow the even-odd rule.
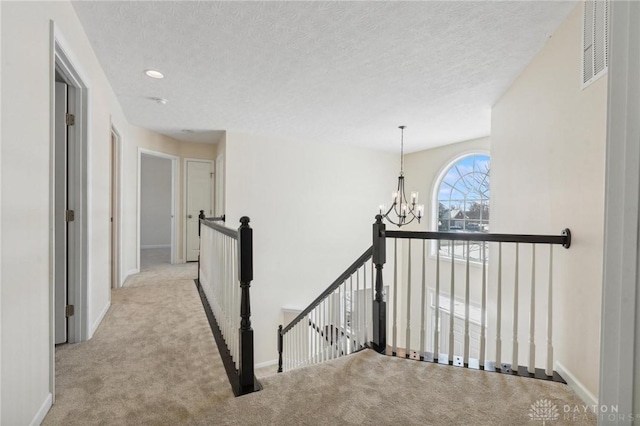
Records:
[[[438,231],[489,232],[491,159],[486,154],[465,155],[444,170],[436,188]],[[441,253],[466,258],[466,244],[442,242]],[[470,244],[469,256],[482,258],[481,244]]]

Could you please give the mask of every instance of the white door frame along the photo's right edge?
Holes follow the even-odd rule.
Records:
[[[622,415],[640,409],[640,31],[634,25],[640,4],[611,2],[610,7],[598,407],[616,406]],[[610,422],[598,421],[605,423]]]

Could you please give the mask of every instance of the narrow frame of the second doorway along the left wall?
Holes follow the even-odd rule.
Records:
[[[111,164],[112,170],[110,170],[110,173],[115,173],[115,176],[113,176],[115,188],[111,188],[111,192],[115,192],[115,194],[109,194],[115,204],[113,206],[112,234],[109,236],[112,239],[111,244],[113,244],[112,262],[114,263],[113,270],[115,271],[115,277],[111,277],[111,287],[120,288],[122,287],[122,133],[113,123],[113,119],[111,120],[110,137],[111,134],[115,136],[115,152],[110,154],[115,157],[112,159],[114,163]],[[111,138],[109,144],[111,144]],[[109,148],[111,151],[111,147]],[[111,182],[109,184],[111,185]]]

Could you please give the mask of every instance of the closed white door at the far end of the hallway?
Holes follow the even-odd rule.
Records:
[[[213,164],[210,161],[187,160],[187,262],[198,260],[200,239],[198,215],[213,215]]]

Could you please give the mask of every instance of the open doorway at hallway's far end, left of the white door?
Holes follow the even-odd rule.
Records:
[[[177,157],[141,150],[139,155],[139,268],[176,263]]]

